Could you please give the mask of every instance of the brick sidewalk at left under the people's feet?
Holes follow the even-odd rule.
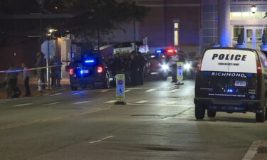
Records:
[[[7,99],[6,88],[3,85],[4,81],[2,81],[2,79],[3,78],[1,78],[1,81],[0,81],[0,100]],[[32,97],[52,94],[53,92],[59,92],[61,90],[67,90],[70,88],[69,84],[70,84],[69,79],[63,78],[61,80],[61,87],[51,88],[51,90],[46,89],[46,90],[43,90],[43,92],[38,92],[36,75],[31,75],[30,82],[29,82]],[[23,97],[25,95],[25,87],[24,87],[23,79],[21,76],[18,77],[18,87],[21,90],[20,97]]]

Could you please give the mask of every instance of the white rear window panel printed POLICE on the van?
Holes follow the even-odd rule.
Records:
[[[204,53],[201,71],[257,73],[256,59],[250,50],[210,49]]]

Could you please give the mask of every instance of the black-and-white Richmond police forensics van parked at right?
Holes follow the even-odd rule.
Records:
[[[248,48],[206,48],[197,65],[195,117],[216,112],[255,112],[256,122],[267,119],[267,59]]]

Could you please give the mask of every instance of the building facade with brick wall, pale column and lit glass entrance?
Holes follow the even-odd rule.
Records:
[[[235,46],[239,34],[244,47],[260,49],[267,28],[267,0],[135,0],[150,8],[144,21],[136,25],[137,41],[147,37],[151,50],[179,46],[200,53],[211,43]],[[251,12],[251,5],[257,7]],[[125,32],[115,31],[113,42],[133,41],[132,23]]]

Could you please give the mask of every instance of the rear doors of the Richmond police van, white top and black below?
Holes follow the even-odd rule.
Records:
[[[206,50],[197,74],[196,97],[256,99],[256,60],[253,50]]]

